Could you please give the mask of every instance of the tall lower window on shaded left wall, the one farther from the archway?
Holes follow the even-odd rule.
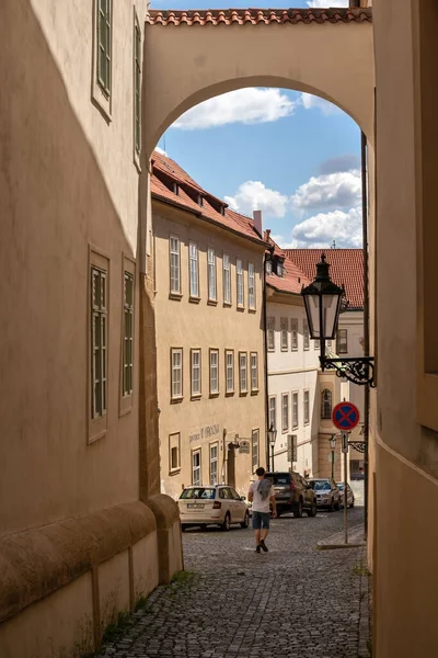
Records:
[[[91,344],[93,420],[106,416],[107,404],[107,336],[108,336],[107,270],[91,265]]]

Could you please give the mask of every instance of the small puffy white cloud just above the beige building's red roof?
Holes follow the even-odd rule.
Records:
[[[234,196],[224,201],[239,213],[251,215],[253,211],[263,211],[270,217],[284,217],[288,206],[288,196],[266,188],[261,181],[242,183]]]

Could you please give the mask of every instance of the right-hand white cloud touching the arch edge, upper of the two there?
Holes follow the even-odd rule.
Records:
[[[312,177],[309,182],[298,188],[291,196],[292,208],[336,209],[350,208],[360,203],[360,171],[338,171]]]

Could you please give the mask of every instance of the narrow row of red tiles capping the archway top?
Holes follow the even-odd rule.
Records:
[[[150,10],[150,25],[270,25],[272,23],[364,23],[371,22],[371,9],[216,9]]]

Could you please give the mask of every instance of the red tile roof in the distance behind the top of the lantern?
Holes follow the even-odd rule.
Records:
[[[287,256],[313,281],[321,249],[285,249]],[[327,249],[330,275],[337,285],[345,285],[348,309],[364,308],[364,253],[361,249]]]

